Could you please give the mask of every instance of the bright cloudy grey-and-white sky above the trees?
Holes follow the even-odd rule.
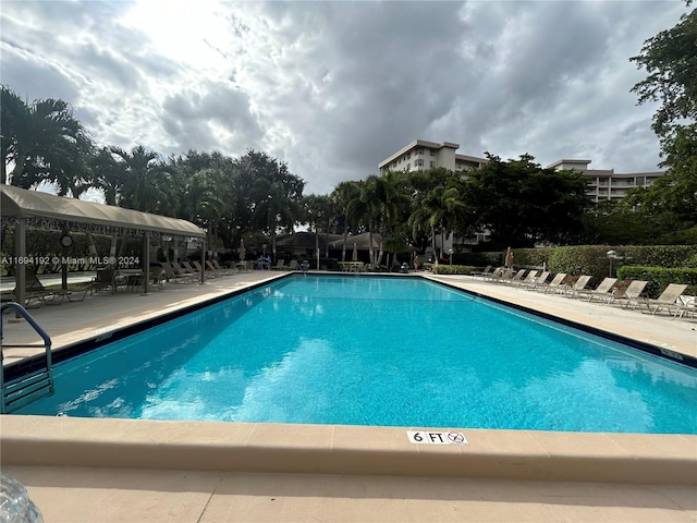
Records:
[[[657,170],[629,57],[678,0],[2,0],[0,81],[61,98],[99,145],[264,150],[305,193],[409,142]]]

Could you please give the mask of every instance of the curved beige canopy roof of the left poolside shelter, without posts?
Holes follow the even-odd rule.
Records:
[[[188,238],[206,236],[206,232],[191,221],[167,216],[65,198],[12,185],[0,185],[0,193],[2,218],[34,218]]]

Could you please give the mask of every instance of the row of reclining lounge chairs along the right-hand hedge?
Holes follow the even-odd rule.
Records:
[[[617,285],[616,278],[604,278],[598,287],[589,289],[591,276],[582,275],[577,278],[568,278],[560,272],[551,280],[549,271],[510,268],[487,267],[481,272],[472,273],[474,278],[481,278],[501,284],[523,288],[529,291],[561,294],[567,297],[592,302],[596,299],[602,304],[619,304],[624,308],[639,308],[655,315],[660,311],[667,311],[673,318],[684,315],[697,314],[696,297],[685,295],[687,289],[683,283],[670,283],[657,299],[650,299],[645,294],[648,281],[633,280],[627,285]],[[548,281],[549,280],[549,281]]]

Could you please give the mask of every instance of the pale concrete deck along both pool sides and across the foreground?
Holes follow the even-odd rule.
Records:
[[[243,272],[30,313],[56,350],[280,276]],[[651,317],[469,277],[431,278],[697,356],[694,318]],[[2,320],[3,343],[36,340],[13,315]],[[4,352],[9,363],[27,350]],[[453,431],[469,445],[414,445],[406,427],[5,415],[0,463],[27,486],[47,523],[697,521],[697,436]]]

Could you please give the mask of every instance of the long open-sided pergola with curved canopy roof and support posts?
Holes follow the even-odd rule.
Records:
[[[0,185],[0,216],[2,228],[14,227],[15,257],[26,259],[27,228],[56,229],[75,232],[98,232],[107,234],[130,234],[143,236],[144,293],[148,292],[151,239],[162,236],[191,239],[198,238],[201,245],[201,273],[205,266],[206,232],[194,223],[166,216],[124,209],[111,205],[84,202],[77,198],[56,196],[39,191],[27,191],[12,185]],[[58,240],[58,239],[57,239]],[[26,266],[15,264],[16,293],[19,303],[24,303],[26,288]]]

